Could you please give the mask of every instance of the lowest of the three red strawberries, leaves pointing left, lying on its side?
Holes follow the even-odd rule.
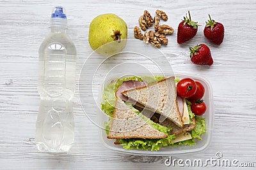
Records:
[[[210,48],[204,44],[196,45],[194,48],[189,46],[191,62],[197,65],[213,64]]]

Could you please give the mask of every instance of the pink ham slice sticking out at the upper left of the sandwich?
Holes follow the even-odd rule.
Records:
[[[146,86],[147,83],[144,81],[136,81],[136,80],[129,80],[129,81],[124,81],[120,87],[116,90],[116,96],[120,97],[123,101],[128,101],[128,97],[124,96],[122,92],[126,90],[131,90],[135,89],[138,87],[144,87]]]

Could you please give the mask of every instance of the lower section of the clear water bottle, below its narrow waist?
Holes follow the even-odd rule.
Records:
[[[74,143],[72,102],[42,100],[36,122],[36,146],[44,152],[67,152]]]

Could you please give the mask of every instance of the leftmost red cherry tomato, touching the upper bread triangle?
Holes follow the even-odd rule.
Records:
[[[177,84],[177,94],[183,98],[192,97],[196,92],[196,82],[191,78],[184,78]]]

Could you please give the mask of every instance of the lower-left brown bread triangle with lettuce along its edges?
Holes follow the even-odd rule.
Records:
[[[109,139],[161,139],[168,135],[157,131],[132,111],[120,98],[116,98],[115,112],[111,121]]]

